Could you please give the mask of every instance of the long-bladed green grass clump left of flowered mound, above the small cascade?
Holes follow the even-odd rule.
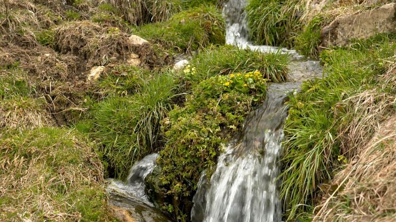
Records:
[[[103,146],[110,175],[124,179],[134,161],[161,144],[159,124],[171,108],[174,87],[172,76],[157,74],[135,94],[109,96],[94,106],[92,135]]]

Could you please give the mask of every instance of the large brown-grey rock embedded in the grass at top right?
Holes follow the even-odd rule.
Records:
[[[322,30],[322,47],[345,46],[352,39],[396,32],[395,3],[334,20]]]

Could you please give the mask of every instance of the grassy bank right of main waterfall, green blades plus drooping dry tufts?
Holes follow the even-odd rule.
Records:
[[[288,219],[315,214],[324,193],[335,191],[327,185],[335,173],[395,112],[394,76],[388,70],[396,45],[389,37],[322,52],[327,76],[305,82],[291,98],[281,175]]]

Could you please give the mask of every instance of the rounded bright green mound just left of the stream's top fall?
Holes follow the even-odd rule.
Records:
[[[213,7],[190,9],[162,23],[137,29],[138,36],[176,51],[194,51],[210,44],[225,42],[225,23]]]

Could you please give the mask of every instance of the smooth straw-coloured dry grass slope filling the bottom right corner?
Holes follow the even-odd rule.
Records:
[[[396,115],[332,181],[337,188],[314,221],[393,221],[396,218]]]

